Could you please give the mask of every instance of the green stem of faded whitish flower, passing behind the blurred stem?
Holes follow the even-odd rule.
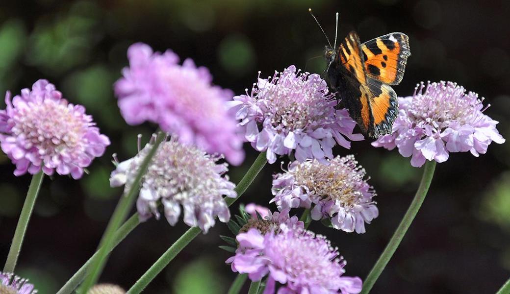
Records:
[[[129,220],[127,220],[118,230],[115,232],[115,236],[113,237],[112,248],[110,248],[110,252],[119,245],[120,242],[127,236],[127,234],[131,233],[138,225],[140,224],[138,212],[135,213]],[[85,279],[87,270],[90,267],[90,264],[97,260],[99,256],[99,250],[92,255],[92,257],[82,265],[82,267],[76,272],[62,288],[57,292],[57,294],[71,294],[74,289],[78,287],[78,285]]]

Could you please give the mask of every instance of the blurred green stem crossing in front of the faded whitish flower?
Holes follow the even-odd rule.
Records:
[[[120,198],[117,207],[113,212],[113,216],[110,219],[110,222],[108,223],[108,227],[106,228],[106,231],[103,234],[103,238],[101,239],[101,242],[99,244],[98,257],[97,259],[94,260],[94,262],[92,262],[88,271],[89,272],[88,276],[85,279],[85,282],[83,282],[83,285],[79,292],[87,293],[90,287],[92,287],[97,282],[101,272],[103,272],[106,261],[108,259],[108,254],[112,249],[115,231],[117,231],[122,222],[124,222],[124,220],[127,217],[127,213],[129,213],[129,211],[133,207],[133,204],[135,203],[136,200],[136,195],[138,194],[138,190],[140,189],[141,179],[145,172],[147,171],[147,168],[150,164],[152,157],[154,157],[156,151],[158,150],[159,145],[161,144],[161,142],[163,142],[164,139],[165,135],[160,132],[157,136],[156,142],[154,142],[154,145],[149,150],[149,153],[143,159],[143,162],[138,170],[138,173],[135,177],[135,180],[132,183],[129,192],[127,192],[126,195],[122,195],[122,197]]]

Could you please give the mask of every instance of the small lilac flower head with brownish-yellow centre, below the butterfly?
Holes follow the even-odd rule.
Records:
[[[379,215],[372,200],[375,191],[365,175],[353,155],[337,156],[328,165],[295,161],[288,171],[274,176],[271,202],[280,210],[314,204],[312,219],[329,219],[336,229],[364,233],[365,223]]]

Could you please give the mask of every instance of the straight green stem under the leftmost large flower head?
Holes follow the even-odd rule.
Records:
[[[19,252],[21,251],[21,245],[23,245],[23,238],[25,237],[25,232],[27,232],[30,216],[34,210],[35,200],[37,199],[37,194],[39,194],[43,178],[44,173],[42,171],[32,176],[29,191],[27,192],[27,198],[25,198],[25,203],[23,203],[23,208],[21,208],[21,214],[19,215],[18,224],[16,225],[16,231],[12,238],[11,249],[9,249],[7,261],[5,262],[4,272],[6,273],[14,273],[14,268],[16,268],[16,262],[18,261]]]

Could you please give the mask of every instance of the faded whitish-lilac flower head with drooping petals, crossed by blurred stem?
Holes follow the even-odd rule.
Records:
[[[131,188],[154,138],[135,157],[117,165],[110,177],[111,186],[125,184],[124,191]],[[237,193],[235,184],[227,176],[222,177],[228,168],[226,163],[216,163],[221,158],[174,139],[161,143],[142,178],[137,201],[140,220],[145,221],[152,215],[159,219],[161,201],[165,217],[172,226],[179,220],[181,205],[184,222],[200,227],[204,233],[214,226],[216,216],[221,222],[228,222],[230,211],[222,195],[235,198]]]

